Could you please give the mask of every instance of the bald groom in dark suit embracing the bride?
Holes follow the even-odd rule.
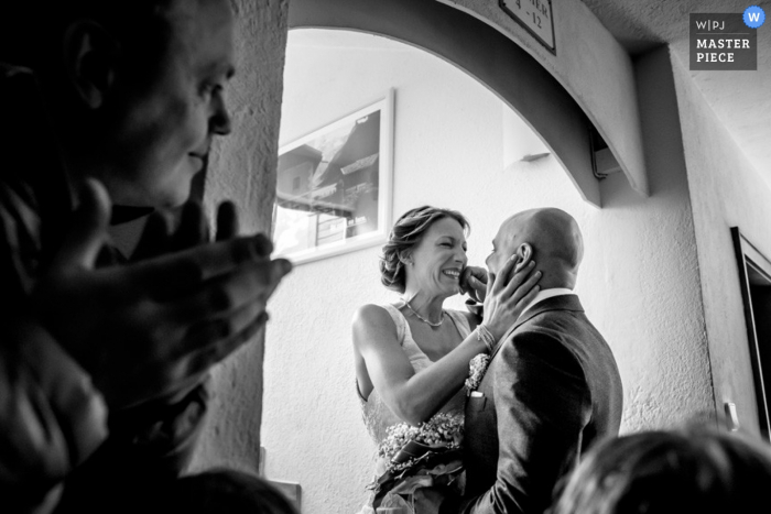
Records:
[[[446,501],[443,513],[540,514],[582,453],[618,435],[618,368],[572,291],[583,253],[576,221],[560,209],[520,212],[498,231],[490,273],[514,254],[533,259],[541,291],[500,339],[468,398],[466,495]]]

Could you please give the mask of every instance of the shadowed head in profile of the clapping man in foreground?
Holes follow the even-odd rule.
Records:
[[[57,0],[33,67],[64,163],[116,204],[184,203],[214,135],[230,131],[234,74],[227,0]]]

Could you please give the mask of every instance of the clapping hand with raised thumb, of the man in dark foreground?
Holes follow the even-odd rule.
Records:
[[[292,265],[270,259],[272,244],[262,234],[230,237],[235,211],[224,207],[221,240],[193,245],[195,230],[193,237],[178,236],[203,216],[194,212],[187,222],[183,216],[177,241],[167,247],[192,248],[160,256],[146,252],[138,263],[95,270],[107,212],[106,190],[90,181],[33,302],[108,405],[124,407],[194,385],[249,340],[268,319],[265,304]],[[162,236],[150,225],[142,239]]]

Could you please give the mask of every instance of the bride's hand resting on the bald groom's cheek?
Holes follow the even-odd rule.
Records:
[[[512,255],[496,275],[489,273],[485,296],[485,321],[496,340],[500,339],[517,318],[535,299],[541,272],[535,261],[522,261]]]

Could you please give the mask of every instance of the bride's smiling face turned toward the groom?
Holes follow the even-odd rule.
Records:
[[[468,261],[464,229],[453,218],[434,221],[408,258],[408,289],[432,296],[460,292],[460,273]]]

